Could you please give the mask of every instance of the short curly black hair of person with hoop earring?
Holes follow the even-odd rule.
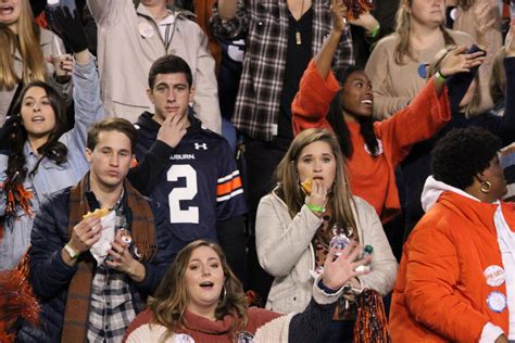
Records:
[[[480,127],[453,129],[432,150],[435,179],[464,190],[474,176],[490,165],[501,149],[501,140]]]

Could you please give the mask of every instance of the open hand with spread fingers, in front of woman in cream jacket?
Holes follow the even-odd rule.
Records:
[[[363,251],[363,245],[351,241],[342,251],[337,254],[331,249],[327,254],[322,274],[322,282],[331,290],[339,290],[350,279],[369,272],[369,270],[355,271],[355,268],[370,263],[372,257],[367,256],[355,261]]]

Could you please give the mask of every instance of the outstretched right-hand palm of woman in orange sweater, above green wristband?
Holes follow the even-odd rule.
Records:
[[[485,61],[485,52],[465,53],[468,48],[457,47],[451,50],[440,64],[440,74],[449,77],[459,73],[468,73],[470,68],[479,66]]]

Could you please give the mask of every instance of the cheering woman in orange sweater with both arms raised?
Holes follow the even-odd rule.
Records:
[[[307,65],[291,105],[293,131],[312,127],[331,129],[339,137],[347,160],[352,192],[374,206],[394,254],[400,255],[402,233],[395,237],[400,214],[395,167],[416,142],[432,137],[450,119],[444,77],[480,65],[482,53],[457,48],[442,60],[437,76],[391,118],[373,122],[372,82],[362,68],[331,72],[331,61],[346,28],[347,8],[341,0],[331,5],[332,29],[321,51]]]

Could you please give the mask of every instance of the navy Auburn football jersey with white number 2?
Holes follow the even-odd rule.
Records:
[[[194,117],[149,196],[167,206],[173,234],[185,245],[197,239],[216,241],[216,223],[247,213],[241,177],[227,141],[204,129]],[[160,124],[150,113],[136,123],[140,160],[155,142]]]

